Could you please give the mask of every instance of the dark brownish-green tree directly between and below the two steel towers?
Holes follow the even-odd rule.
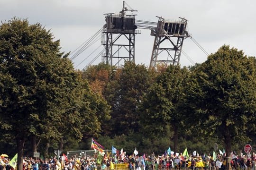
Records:
[[[150,72],[144,65],[129,61],[112,75],[104,96],[112,108],[109,126],[113,127],[113,135],[126,135],[128,129],[139,131],[137,110],[151,82]]]

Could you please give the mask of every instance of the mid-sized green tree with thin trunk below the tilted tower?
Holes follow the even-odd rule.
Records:
[[[167,133],[170,128],[174,130],[174,151],[177,151],[178,130],[183,120],[180,106],[188,76],[187,68],[169,66],[149,88],[140,108],[144,125],[155,129],[158,135]]]

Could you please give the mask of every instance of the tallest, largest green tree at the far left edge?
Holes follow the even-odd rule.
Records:
[[[18,170],[29,136],[60,140],[70,133],[79,140],[82,116],[106,113],[97,95],[85,93],[89,88],[81,92],[86,84],[53,39],[50,31],[27,19],[0,26],[0,133],[16,141]]]

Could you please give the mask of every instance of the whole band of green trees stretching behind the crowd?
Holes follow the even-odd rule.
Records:
[[[132,153],[240,152],[255,142],[256,59],[224,45],[191,67],[126,62],[75,70],[40,24],[0,26],[0,152],[87,150],[91,137]],[[24,154],[23,154],[24,153]]]

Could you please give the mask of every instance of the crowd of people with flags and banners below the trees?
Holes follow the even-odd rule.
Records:
[[[24,157],[23,170],[224,170],[231,166],[233,170],[256,170],[256,153],[252,155],[233,155],[230,162],[223,155],[217,155],[216,160],[208,155],[186,157],[179,155],[131,155],[124,157],[97,155],[76,157],[51,157],[49,159],[34,159]],[[1,157],[0,170],[14,170],[9,165],[9,159]],[[119,165],[119,166],[118,166]],[[121,166],[120,166],[121,165]]]

